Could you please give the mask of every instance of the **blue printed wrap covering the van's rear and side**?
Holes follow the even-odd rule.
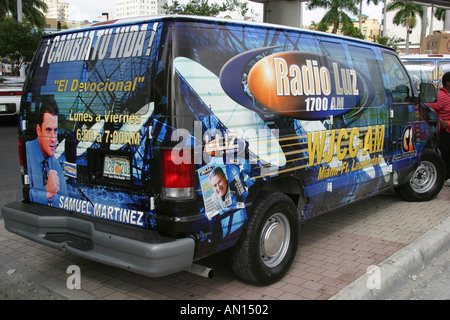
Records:
[[[196,239],[201,258],[236,243],[248,200],[272,180],[301,182],[306,220],[391,186],[392,170],[418,161],[432,133],[390,118],[387,85],[375,87],[385,76],[368,67],[379,54],[347,42],[182,18],[48,36],[22,101],[25,137],[36,138],[39,110],[53,100],[67,184],[57,206],[174,228]],[[330,53],[336,47],[342,55]],[[168,204],[161,150],[177,144],[193,150],[195,196]]]

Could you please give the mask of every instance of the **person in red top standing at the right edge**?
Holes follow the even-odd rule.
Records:
[[[450,185],[450,72],[442,76],[442,87],[439,88],[437,102],[429,105],[440,118],[442,129],[439,134],[439,150],[445,162],[445,184]]]

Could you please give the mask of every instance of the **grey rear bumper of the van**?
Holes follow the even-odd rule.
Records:
[[[11,202],[2,207],[6,230],[89,260],[150,277],[185,270],[193,262],[193,239],[127,237],[123,231],[117,234],[98,230],[102,228],[95,221],[58,211],[25,202]]]

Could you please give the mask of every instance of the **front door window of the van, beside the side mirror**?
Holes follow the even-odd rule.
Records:
[[[396,103],[409,102],[412,90],[405,68],[396,56],[383,52],[383,57],[393,101]]]

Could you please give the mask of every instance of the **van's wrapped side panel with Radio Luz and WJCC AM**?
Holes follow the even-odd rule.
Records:
[[[172,104],[198,125],[188,128],[189,146],[198,156],[198,210],[205,218],[190,232],[205,250],[232,245],[251,214],[246,199],[277,179],[299,179],[305,220],[407,177],[406,165],[398,166],[408,172],[395,182],[392,174],[402,151],[388,143],[396,133],[379,47],[192,20],[177,21],[172,34]],[[242,185],[224,207],[207,178],[214,168]]]

